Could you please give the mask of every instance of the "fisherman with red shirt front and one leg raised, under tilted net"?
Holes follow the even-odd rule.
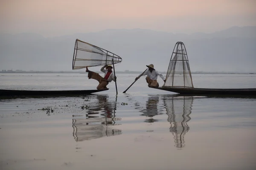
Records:
[[[106,69],[104,69],[106,68]],[[86,72],[88,72],[88,78],[89,79],[96,79],[99,82],[99,85],[97,86],[98,90],[102,89],[108,89],[107,85],[109,82],[112,80],[115,82],[116,81],[116,76],[114,76],[112,72],[112,66],[111,65],[105,65],[103,66],[100,71],[105,73],[104,78],[101,77],[98,73],[95,73],[93,71],[89,71],[88,67],[86,67]]]

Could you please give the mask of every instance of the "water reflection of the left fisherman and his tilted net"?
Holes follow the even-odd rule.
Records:
[[[97,95],[91,105],[85,119],[73,119],[73,137],[76,142],[122,134],[122,130],[113,128],[118,125],[116,121],[121,120],[116,117],[116,101],[110,102],[108,96]]]

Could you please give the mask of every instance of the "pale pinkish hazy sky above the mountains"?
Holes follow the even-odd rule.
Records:
[[[45,37],[109,28],[214,32],[256,26],[256,0],[0,0],[0,33]]]

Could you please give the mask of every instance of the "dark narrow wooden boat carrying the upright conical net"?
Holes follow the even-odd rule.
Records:
[[[255,96],[256,88],[166,88],[156,89],[172,91],[178,94],[203,94],[203,95],[246,95]]]

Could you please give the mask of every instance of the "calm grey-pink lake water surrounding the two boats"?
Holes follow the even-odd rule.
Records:
[[[95,89],[87,74],[1,74],[1,89]],[[117,75],[88,96],[0,99],[0,169],[253,170],[256,98],[180,96]],[[256,88],[256,75],[194,74],[198,88]],[[163,81],[159,78],[160,85]]]

